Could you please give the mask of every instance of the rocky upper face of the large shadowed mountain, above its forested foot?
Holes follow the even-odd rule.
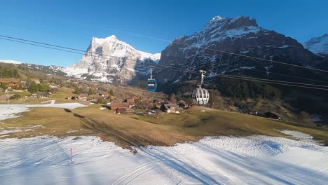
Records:
[[[231,55],[237,53],[239,55]],[[260,57],[315,67],[324,58],[317,57],[303,48],[301,43],[277,32],[261,28],[256,20],[248,17],[212,18],[199,32],[181,36],[162,51],[160,65],[189,70],[206,70],[207,74],[244,74],[261,78],[273,78],[271,73],[297,74],[290,67],[247,58]],[[179,82],[199,76],[184,70],[156,74],[160,83]],[[297,69],[298,70],[298,69]],[[278,77],[277,77],[278,78]]]

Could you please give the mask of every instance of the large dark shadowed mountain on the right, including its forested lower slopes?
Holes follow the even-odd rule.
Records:
[[[200,31],[172,41],[162,51],[158,63],[160,67],[155,70],[154,76],[160,83],[159,90],[183,95],[196,88],[200,75],[192,71],[201,69],[207,71],[204,87],[218,90],[235,106],[247,107],[241,102],[259,99],[282,102],[281,108],[277,109],[280,113],[287,108],[293,114],[300,114],[301,111],[322,116],[327,114],[328,96],[325,90],[228,78],[245,76],[271,82],[327,85],[325,81],[328,77],[324,72],[279,62],[322,69],[328,64],[326,57],[311,53],[295,39],[260,27],[254,19],[217,16]],[[212,93],[212,96],[216,94]]]

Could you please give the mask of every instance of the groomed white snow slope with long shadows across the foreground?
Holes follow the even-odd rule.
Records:
[[[71,163],[70,147],[73,151]],[[205,137],[137,154],[99,137],[0,139],[1,184],[325,184],[328,149],[280,137]]]

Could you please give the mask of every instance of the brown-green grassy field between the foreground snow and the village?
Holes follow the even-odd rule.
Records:
[[[182,114],[142,116],[117,115],[102,106],[92,105],[78,109],[34,108],[19,118],[2,121],[0,129],[27,130],[6,137],[57,137],[95,135],[118,146],[163,145],[196,141],[204,136],[269,135],[288,137],[279,130],[297,130],[313,135],[328,145],[328,130],[288,125],[266,118],[227,111],[193,107]],[[43,127],[40,127],[42,125]]]

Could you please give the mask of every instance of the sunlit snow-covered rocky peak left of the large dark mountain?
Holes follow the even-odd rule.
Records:
[[[160,54],[136,50],[114,35],[105,39],[93,37],[81,60],[63,71],[68,76],[122,83],[148,75],[148,66],[157,64],[159,58]]]

